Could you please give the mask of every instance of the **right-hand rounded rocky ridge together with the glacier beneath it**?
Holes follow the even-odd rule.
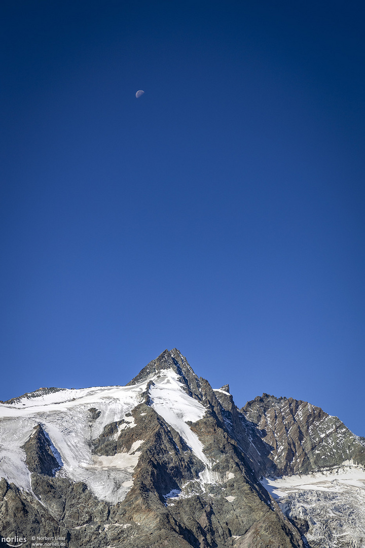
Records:
[[[246,403],[241,413],[271,448],[262,474],[288,476],[266,487],[276,493],[283,513],[300,530],[306,545],[365,546],[363,438],[336,416],[293,398],[263,394]]]

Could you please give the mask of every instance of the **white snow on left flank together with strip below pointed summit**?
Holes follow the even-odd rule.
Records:
[[[61,474],[85,482],[99,499],[111,503],[123,500],[131,488],[143,440],[135,442],[128,453],[111,456],[93,455],[92,440],[108,424],[124,420],[119,429],[134,426],[134,420],[127,415],[143,401],[148,384],[152,407],[181,435],[197,458],[210,466],[202,443],[187,425],[187,421],[201,419],[205,408],[184,392],[178,375],[169,369],[132,386],[62,390],[20,398],[10,405],[0,404],[0,477],[32,490],[22,446],[40,424],[62,461]],[[90,409],[97,410],[96,420],[91,419]]]

